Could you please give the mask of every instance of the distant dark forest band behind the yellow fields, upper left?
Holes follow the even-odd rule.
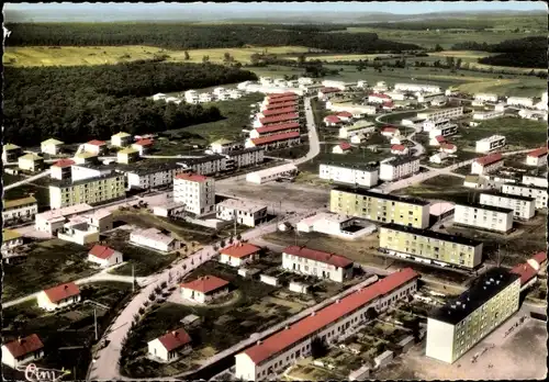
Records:
[[[376,33],[318,33],[294,25],[190,25],[148,23],[14,23],[8,46],[150,45],[172,49],[299,45],[340,53],[421,50]],[[296,30],[298,29],[298,30]]]

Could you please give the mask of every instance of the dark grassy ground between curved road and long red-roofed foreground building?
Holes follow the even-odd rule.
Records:
[[[123,366],[124,373],[137,378],[167,375],[193,369],[205,357],[211,357],[248,338],[251,333],[265,330],[294,314],[287,306],[288,301],[281,300],[277,303],[278,288],[244,279],[237,276],[234,269],[217,262],[206,262],[184,280],[194,280],[203,274],[214,274],[229,281],[236,290],[233,293],[237,292],[239,297],[224,306],[190,306],[176,303],[156,305],[128,338],[126,347],[132,360]],[[298,303],[292,303],[295,304]],[[300,311],[304,308],[301,304],[296,306]],[[198,325],[186,327],[193,341],[193,351],[169,366],[146,359],[144,357],[146,342],[165,334],[166,330],[181,327],[180,321],[189,314],[201,318]]]

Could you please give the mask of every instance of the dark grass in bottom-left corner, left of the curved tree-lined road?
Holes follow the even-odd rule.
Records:
[[[5,341],[18,336],[37,334],[45,346],[45,358],[36,361],[38,368],[65,368],[70,380],[85,380],[94,342],[93,311],[97,313],[98,334],[107,329],[121,302],[131,293],[131,284],[100,282],[80,288],[82,301],[91,300],[109,306],[104,310],[80,302],[57,313],[45,313],[36,302],[3,310],[2,336]],[[8,380],[24,380],[22,373],[3,369]]]

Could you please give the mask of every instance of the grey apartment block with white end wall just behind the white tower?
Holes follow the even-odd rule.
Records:
[[[186,171],[188,170],[176,162],[149,161],[142,161],[125,170],[127,186],[142,190],[171,184],[173,177]]]

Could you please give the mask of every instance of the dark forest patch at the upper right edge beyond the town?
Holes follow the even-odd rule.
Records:
[[[485,65],[547,69],[547,37],[545,36],[506,40],[498,44],[464,42],[453,45],[452,50],[498,53],[495,56],[479,58],[479,63]]]

